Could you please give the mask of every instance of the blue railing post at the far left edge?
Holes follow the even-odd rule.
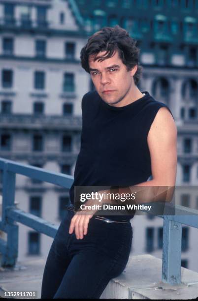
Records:
[[[7,169],[5,162],[3,169],[2,185],[2,223],[7,233],[6,251],[2,254],[1,266],[14,266],[18,256],[18,225],[7,217],[7,210],[14,208],[16,175]]]

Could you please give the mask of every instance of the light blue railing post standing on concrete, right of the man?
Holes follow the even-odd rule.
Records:
[[[182,224],[164,216],[162,281],[171,285],[181,283]]]

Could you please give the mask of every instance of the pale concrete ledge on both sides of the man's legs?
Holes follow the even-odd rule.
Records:
[[[18,262],[13,269],[0,268],[0,298],[4,291],[37,291],[40,298],[44,259]],[[163,283],[162,260],[151,255],[130,256],[126,270],[112,279],[100,299],[188,300],[198,297],[198,273],[182,268],[180,285]],[[22,299],[22,298],[18,298]]]

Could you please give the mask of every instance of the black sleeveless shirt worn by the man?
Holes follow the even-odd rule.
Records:
[[[148,91],[142,93],[143,97],[123,107],[108,105],[97,91],[83,96],[81,147],[69,190],[72,204],[74,186],[127,187],[151,176],[148,132],[158,110],[170,109]],[[133,216],[134,213],[105,217],[129,220]]]

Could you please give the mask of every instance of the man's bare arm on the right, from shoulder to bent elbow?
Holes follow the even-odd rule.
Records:
[[[148,133],[147,142],[153,179],[131,186],[130,190],[134,191],[136,186],[148,187],[145,189],[144,197],[137,203],[152,202],[154,198],[155,201],[163,199],[170,201],[176,181],[177,128],[170,112],[165,107],[160,108],[156,114]]]

